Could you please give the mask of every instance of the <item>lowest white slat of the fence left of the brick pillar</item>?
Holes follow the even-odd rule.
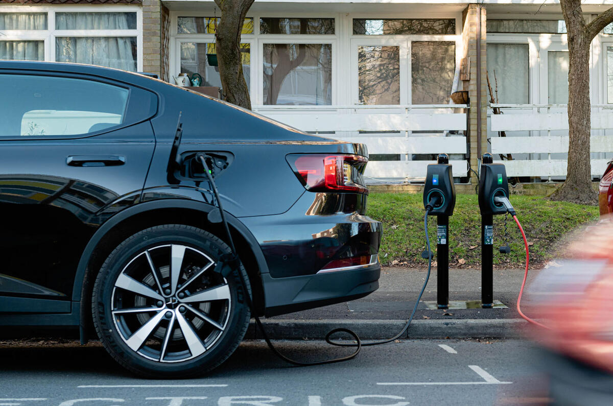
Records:
[[[373,178],[423,178],[428,164],[436,161],[370,161],[365,175]],[[449,161],[454,176],[466,176],[466,161]]]

